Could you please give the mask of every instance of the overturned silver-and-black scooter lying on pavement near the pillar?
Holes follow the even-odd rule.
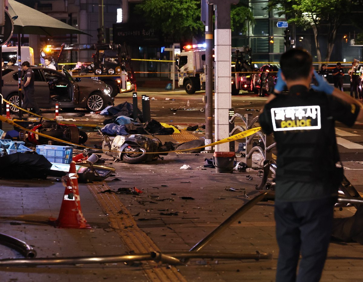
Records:
[[[159,155],[168,154],[166,153],[168,149],[162,147],[161,141],[156,137],[149,138],[141,134],[131,134],[127,136],[117,135],[111,140],[101,131],[100,134],[103,140],[102,150],[105,154],[125,163],[150,162],[159,159]]]

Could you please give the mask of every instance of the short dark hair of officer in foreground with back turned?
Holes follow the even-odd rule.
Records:
[[[307,78],[313,65],[313,58],[306,50],[290,49],[281,55],[280,66],[286,80]]]

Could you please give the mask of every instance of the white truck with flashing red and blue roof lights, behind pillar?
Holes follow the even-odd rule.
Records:
[[[185,45],[178,58],[178,85],[183,87],[188,94],[205,90],[205,44]],[[236,50],[233,48],[232,50]],[[238,50],[238,52],[240,52]],[[243,50],[243,54],[246,50]],[[214,55],[213,55],[214,57]],[[242,58],[244,58],[242,56]],[[248,61],[237,56],[237,61],[232,67],[232,94],[236,95],[241,89],[250,89],[250,75],[246,71],[252,71]],[[214,66],[213,66],[214,69]],[[241,73],[236,73],[236,71]],[[214,80],[214,71],[213,71]]]

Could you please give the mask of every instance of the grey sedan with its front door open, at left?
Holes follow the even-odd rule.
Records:
[[[34,71],[35,98],[42,109],[50,109],[58,104],[62,108],[86,108],[89,111],[101,111],[113,104],[113,98],[104,82],[90,78],[72,78],[68,71],[39,66],[31,66]],[[7,66],[2,69],[4,99],[19,106],[18,67]],[[24,90],[23,90],[24,95]],[[19,109],[10,105],[15,114]]]

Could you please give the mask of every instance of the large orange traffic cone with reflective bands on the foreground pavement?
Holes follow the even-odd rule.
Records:
[[[82,214],[77,177],[76,165],[72,162],[68,176],[62,177],[63,185],[66,188],[61,210],[56,220],[57,228],[91,228]]]

